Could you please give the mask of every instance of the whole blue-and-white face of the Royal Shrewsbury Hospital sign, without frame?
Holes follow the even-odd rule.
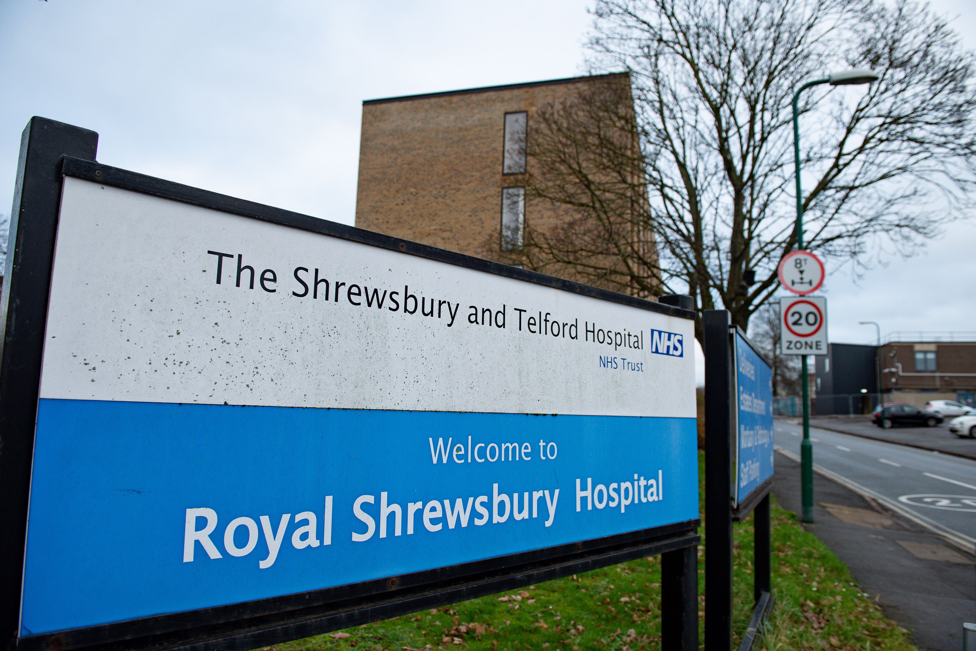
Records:
[[[67,178],[20,634],[695,519],[693,337]]]

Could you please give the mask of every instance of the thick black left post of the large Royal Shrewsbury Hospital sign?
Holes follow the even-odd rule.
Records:
[[[99,135],[33,117],[20,137],[20,164],[10,216],[0,327],[0,630],[17,631],[30,459],[40,388],[51,264],[61,204],[61,156],[95,160]]]

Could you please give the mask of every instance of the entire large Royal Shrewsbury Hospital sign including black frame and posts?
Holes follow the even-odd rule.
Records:
[[[33,118],[21,147],[8,648],[255,648],[658,553],[663,644],[697,648],[693,311],[96,142]]]

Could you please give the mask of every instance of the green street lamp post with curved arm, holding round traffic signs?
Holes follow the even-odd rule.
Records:
[[[806,248],[803,244],[803,190],[799,180],[799,94],[811,86],[830,84],[831,86],[851,86],[856,84],[870,84],[877,81],[878,75],[873,70],[857,68],[832,72],[825,79],[808,81],[793,94],[793,155],[796,163],[796,248]],[[803,522],[813,522],[813,444],[810,442],[810,387],[807,377],[806,355],[800,357],[800,386],[803,395],[803,442],[800,443],[800,491],[803,512]]]

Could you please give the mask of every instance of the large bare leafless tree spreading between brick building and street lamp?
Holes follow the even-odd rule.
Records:
[[[597,0],[593,15],[591,69],[627,70],[632,98],[608,87],[538,110],[527,197],[571,218],[529,220],[520,264],[641,296],[687,292],[747,329],[796,243],[793,92],[831,69],[880,80],[802,98],[808,248],[871,264],[976,205],[974,57],[926,7]]]

